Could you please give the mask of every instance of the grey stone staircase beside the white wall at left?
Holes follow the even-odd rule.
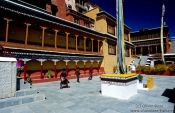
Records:
[[[30,84],[24,83],[21,78],[17,78],[17,90],[14,97],[0,99],[0,109],[46,99],[44,94],[41,94],[37,89],[32,89]]]

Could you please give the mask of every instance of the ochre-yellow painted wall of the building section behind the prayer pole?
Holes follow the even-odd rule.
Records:
[[[96,15],[99,12],[100,12],[99,8],[96,7],[93,10],[90,10],[89,12],[85,13],[85,15],[95,20],[95,30],[99,32],[107,33],[107,19],[105,16],[101,16],[97,18]],[[105,73],[113,73],[113,67],[117,65],[117,53],[116,55],[108,54],[107,37],[104,37],[104,38],[106,38],[105,40],[103,40],[103,47],[102,47],[104,59],[102,61],[101,67],[104,67]],[[130,35],[128,35],[128,38],[130,40]],[[116,46],[116,51],[117,51],[117,46]],[[132,61],[131,57],[126,57],[126,65],[129,65],[131,61]]]

